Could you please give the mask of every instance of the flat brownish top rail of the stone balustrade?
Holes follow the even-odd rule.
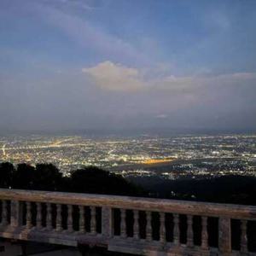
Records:
[[[179,201],[119,195],[94,195],[39,190],[0,189],[0,200],[37,201],[153,212],[174,212],[209,217],[256,219],[256,207],[198,201]]]

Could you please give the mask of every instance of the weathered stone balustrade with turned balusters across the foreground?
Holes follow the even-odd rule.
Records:
[[[0,189],[0,236],[141,255],[256,255],[256,207]]]

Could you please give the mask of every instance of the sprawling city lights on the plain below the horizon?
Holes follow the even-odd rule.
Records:
[[[52,163],[65,175],[99,166],[124,177],[256,174],[256,135],[0,137],[0,161]]]

